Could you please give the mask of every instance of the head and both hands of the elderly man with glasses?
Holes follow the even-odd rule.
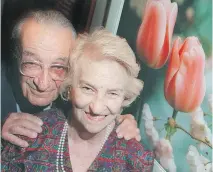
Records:
[[[29,114],[30,109],[49,109],[57,99],[59,87],[69,70],[68,57],[75,37],[72,24],[56,11],[30,12],[16,24],[12,38],[20,73],[22,91],[19,92],[29,111],[22,110],[23,101],[15,95],[17,113],[11,113],[6,119],[2,127],[3,139],[27,147],[28,143],[16,135],[35,138],[42,131],[42,121]],[[117,129],[118,137],[140,140],[132,115],[120,116],[118,121],[122,122]]]

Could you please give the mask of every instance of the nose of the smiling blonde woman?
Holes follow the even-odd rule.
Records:
[[[94,100],[90,103],[90,111],[96,115],[103,115],[106,110],[106,103],[104,97],[95,97]]]

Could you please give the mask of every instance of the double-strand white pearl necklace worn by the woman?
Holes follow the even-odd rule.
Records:
[[[107,141],[107,138],[109,137],[110,132],[111,132],[111,128],[112,128],[111,124],[107,126],[106,133],[105,133],[105,136],[104,136],[104,140],[103,140],[103,142],[102,142],[102,144],[100,146],[100,149],[97,152],[97,155],[100,153],[100,151],[102,150],[105,142]],[[67,135],[67,130],[68,130],[68,123],[66,121],[64,123],[64,128],[62,130],[62,134],[61,134],[60,141],[59,141],[59,146],[58,146],[58,151],[57,151],[57,159],[56,159],[56,171],[57,172],[60,172],[59,165],[61,167],[61,171],[62,172],[66,172],[64,170],[63,154],[64,154],[64,142],[65,142],[65,138],[66,138],[66,135]]]

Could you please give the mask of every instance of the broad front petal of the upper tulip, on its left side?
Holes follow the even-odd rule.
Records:
[[[165,33],[165,8],[159,1],[152,1],[147,6],[137,37],[137,50],[150,67],[154,67],[159,61]]]

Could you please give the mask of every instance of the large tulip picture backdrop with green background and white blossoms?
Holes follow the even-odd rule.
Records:
[[[142,143],[155,150],[165,170],[212,172],[212,1],[149,3],[126,0],[118,28],[144,81],[124,113],[136,117]]]

